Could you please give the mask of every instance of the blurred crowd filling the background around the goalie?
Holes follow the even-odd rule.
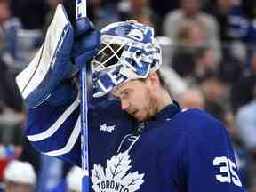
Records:
[[[30,147],[23,133],[26,108],[14,80],[42,44],[57,4],[64,4],[74,20],[74,2],[0,0],[0,188],[5,191],[64,191],[63,180],[67,182],[74,172],[71,164]],[[256,192],[256,1],[87,0],[87,4],[95,28],[119,20],[138,20],[155,28],[172,98],[182,108],[203,108],[227,126],[244,186]],[[8,190],[10,183],[24,184],[22,177],[8,179],[6,172],[12,166],[24,166],[24,172],[31,173],[25,184],[34,189]]]

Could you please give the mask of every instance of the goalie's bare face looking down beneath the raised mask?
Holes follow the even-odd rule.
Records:
[[[154,85],[147,79],[131,80],[114,89],[114,96],[121,101],[122,109],[137,119],[147,121],[157,113]]]

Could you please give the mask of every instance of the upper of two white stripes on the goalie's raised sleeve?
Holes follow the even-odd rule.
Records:
[[[63,124],[70,116],[73,111],[79,106],[80,100],[77,97],[76,100],[64,111],[64,113],[57,119],[54,124],[46,131],[35,134],[35,135],[28,135],[28,140],[30,141],[40,141],[47,138],[50,138],[57,130],[60,128],[61,124]]]

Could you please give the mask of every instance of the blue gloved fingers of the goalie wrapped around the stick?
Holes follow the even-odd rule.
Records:
[[[88,18],[76,20],[73,28],[75,39],[71,57],[74,58],[76,66],[81,68],[98,52],[100,32],[93,28],[92,22]]]

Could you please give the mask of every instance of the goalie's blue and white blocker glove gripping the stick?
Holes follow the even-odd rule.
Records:
[[[92,59],[99,44],[100,33],[92,27],[90,20],[77,20],[73,28],[64,7],[59,4],[44,44],[28,67],[16,77],[28,108],[36,108],[45,100],[52,105],[74,100],[76,86],[67,79]]]

